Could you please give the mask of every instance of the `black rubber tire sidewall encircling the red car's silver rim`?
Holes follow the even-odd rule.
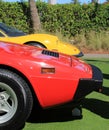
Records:
[[[23,85],[25,87],[25,85],[27,84],[21,81],[21,79],[18,79],[17,77],[13,76],[12,74],[9,76],[3,75],[1,73],[0,82],[10,86],[10,88],[13,89],[13,91],[15,92],[18,100],[18,107],[15,115],[9,121],[0,124],[0,130],[7,130],[10,128],[11,130],[17,130],[20,126],[22,126],[25,123],[25,120],[27,118],[26,116],[28,114],[28,95],[26,94],[26,89],[23,88]]]

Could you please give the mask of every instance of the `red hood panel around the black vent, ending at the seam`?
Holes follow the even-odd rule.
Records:
[[[21,57],[22,59],[28,59],[32,61],[43,61],[54,64],[63,64],[71,66],[71,57],[58,52],[49,51],[47,49],[37,48],[28,45],[18,45],[11,43],[0,42],[0,53],[5,52],[11,57]],[[2,55],[2,54],[1,54]]]

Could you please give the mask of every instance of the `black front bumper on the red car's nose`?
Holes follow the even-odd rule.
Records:
[[[80,100],[92,91],[100,92],[102,90],[103,75],[99,68],[91,65],[93,77],[92,79],[83,78],[79,80],[79,84],[73,100]]]

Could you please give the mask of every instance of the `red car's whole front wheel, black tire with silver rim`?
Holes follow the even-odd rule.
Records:
[[[32,94],[25,80],[0,69],[0,130],[21,130],[32,106]]]

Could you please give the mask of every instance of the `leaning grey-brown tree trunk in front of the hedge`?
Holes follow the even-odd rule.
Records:
[[[41,23],[40,23],[40,18],[38,15],[35,0],[29,0],[29,7],[30,7],[30,14],[31,14],[33,31],[35,33],[35,32],[38,32],[41,30]]]

